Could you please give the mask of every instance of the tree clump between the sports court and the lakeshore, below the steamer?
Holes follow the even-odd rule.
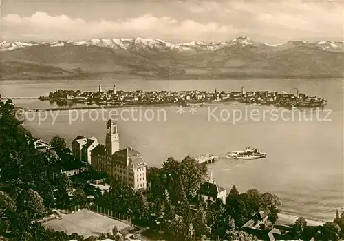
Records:
[[[267,209],[275,223],[281,204],[271,193],[251,189],[239,193],[236,187],[222,201],[209,205],[199,198],[207,169],[193,158],[181,161],[168,158],[162,168],[149,169],[145,191],[134,192],[121,182],[114,182],[108,193],[96,199],[106,209],[129,215],[133,222],[164,231],[173,240],[255,240],[239,228],[259,209]]]

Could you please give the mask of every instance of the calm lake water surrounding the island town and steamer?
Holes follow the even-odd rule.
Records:
[[[141,118],[139,112],[134,116],[129,114],[129,109],[114,109],[112,113],[122,114],[118,119],[120,146],[140,151],[149,166],[161,165],[169,156],[180,160],[187,155],[217,154],[220,160],[208,165],[208,169],[213,171],[215,181],[228,190],[235,184],[239,191],[252,188],[270,191],[283,200],[283,211],[319,220],[333,220],[336,209],[344,206],[343,80],[1,81],[0,93],[2,96],[42,96],[58,89],[96,91],[99,83],[103,90],[111,90],[116,83],[118,90],[126,91],[240,91],[243,86],[245,91],[291,90],[296,93],[297,88],[309,96],[327,99],[318,117],[316,111],[293,115],[282,108],[242,103],[199,107],[194,114],[189,109],[178,114],[175,106],[140,107]],[[15,103],[27,108],[56,106],[38,100]],[[70,145],[76,136],[82,135],[95,136],[105,143],[105,123],[111,117],[110,110],[104,111],[103,116],[99,109],[84,114],[81,110],[53,112],[54,116],[57,114],[55,122],[51,114],[41,114],[41,119],[45,120],[31,114],[25,125],[43,140],[60,135]],[[233,116],[234,111],[236,116]],[[239,112],[243,118],[233,121],[239,119]],[[252,118],[252,112],[258,114]],[[144,118],[144,114],[153,120]],[[244,161],[224,157],[227,151],[246,146],[266,151],[268,155]]]

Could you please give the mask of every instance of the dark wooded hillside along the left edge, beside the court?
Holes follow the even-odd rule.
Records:
[[[61,174],[51,182],[48,154],[34,148],[35,139],[14,118],[13,110],[12,101],[0,102],[0,235],[13,240],[71,240],[31,221],[50,214],[51,205],[84,202],[85,193],[76,189],[70,200],[72,182],[67,176]]]

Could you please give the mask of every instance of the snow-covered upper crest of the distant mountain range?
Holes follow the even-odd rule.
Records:
[[[144,50],[153,50],[166,52],[169,50],[177,50],[180,52],[213,52],[220,48],[224,48],[226,46],[255,46],[259,48],[260,46],[265,46],[266,48],[293,48],[294,46],[310,46],[312,48],[319,48],[321,50],[327,51],[336,51],[336,52],[344,52],[344,45],[343,41],[317,41],[317,42],[306,42],[306,41],[288,41],[286,43],[280,44],[269,44],[269,43],[260,43],[257,41],[253,41],[247,36],[237,37],[235,39],[231,39],[226,42],[222,43],[205,43],[202,41],[191,41],[188,43],[169,43],[163,41],[162,39],[145,39],[142,37],[136,37],[135,39],[104,39],[104,38],[95,38],[95,39],[88,39],[85,41],[52,41],[48,43],[34,43],[34,42],[21,42],[21,41],[2,41],[0,42],[0,52],[3,51],[10,51],[16,50],[18,48],[28,48],[34,45],[42,45],[47,47],[63,47],[65,45],[76,45],[76,46],[98,46],[98,47],[105,47],[105,48],[113,48],[116,50],[129,50],[129,51],[140,51]]]

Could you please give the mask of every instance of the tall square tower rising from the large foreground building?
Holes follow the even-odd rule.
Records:
[[[114,120],[107,121],[107,136],[105,138],[105,149],[107,156],[112,156],[120,149],[120,138],[118,136],[117,123]]]

